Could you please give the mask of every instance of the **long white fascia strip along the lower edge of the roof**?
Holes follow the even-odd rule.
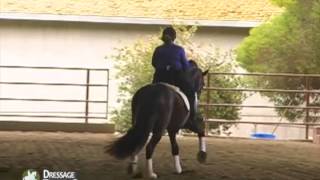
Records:
[[[57,22],[87,22],[105,24],[140,24],[140,25],[197,25],[203,27],[230,27],[252,28],[257,27],[261,21],[235,21],[235,20],[177,20],[156,19],[140,17],[106,17],[106,16],[80,16],[80,15],[55,15],[55,14],[31,14],[0,12],[0,20],[29,20],[29,21],[57,21]]]

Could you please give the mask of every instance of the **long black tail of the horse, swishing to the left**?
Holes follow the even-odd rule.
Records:
[[[133,103],[135,103],[135,100],[136,97],[134,97]],[[132,118],[134,125],[128,132],[107,147],[106,152],[117,159],[125,159],[140,152],[146,144],[155,123],[152,112],[141,106],[133,107]]]

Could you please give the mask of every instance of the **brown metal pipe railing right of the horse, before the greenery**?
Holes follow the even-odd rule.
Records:
[[[210,84],[211,76],[257,76],[257,77],[283,77],[283,78],[304,78],[305,89],[263,89],[263,88],[225,88],[225,87],[212,87]],[[306,128],[306,139],[308,139],[309,126],[320,125],[319,123],[310,123],[310,110],[320,110],[320,106],[311,105],[310,96],[311,94],[320,94],[320,90],[311,90],[310,79],[320,78],[320,74],[291,74],[291,73],[220,73],[212,72],[207,75],[207,84],[204,88],[207,99],[205,102],[200,103],[200,106],[204,107],[205,117],[207,123],[219,122],[219,123],[248,123],[248,124],[294,124],[304,125]],[[268,92],[268,93],[300,93],[305,96],[305,103],[303,106],[292,106],[292,105],[242,105],[232,103],[210,103],[210,92],[211,91],[226,91],[226,92]],[[212,100],[214,101],[214,99]],[[302,109],[305,111],[304,123],[281,123],[281,122],[244,122],[244,121],[229,121],[229,120],[212,120],[209,117],[210,107],[233,107],[233,108],[281,108],[281,109]],[[207,124],[206,123],[206,124]],[[206,127],[207,129],[207,127]]]

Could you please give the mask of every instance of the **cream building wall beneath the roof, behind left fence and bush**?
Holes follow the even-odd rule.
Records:
[[[106,56],[114,48],[137,39],[157,35],[154,25],[120,25],[44,21],[0,21],[0,65],[111,68],[109,110],[116,107],[117,80],[113,63]],[[199,28],[194,41],[222,49],[236,47],[248,35],[248,29]],[[116,63],[116,62],[115,62]],[[105,83],[105,74],[92,73],[91,81]],[[1,69],[1,81],[40,81],[85,83],[85,72]],[[90,97],[105,100],[106,91],[91,88]],[[84,99],[84,88],[0,85],[1,97]],[[83,103],[0,102],[1,111],[84,111]],[[91,111],[104,112],[103,105],[90,104]],[[110,111],[109,111],[110,112]],[[6,118],[12,119],[12,118]],[[15,118],[16,119],[16,118]],[[45,120],[49,119],[30,119]],[[58,121],[58,119],[51,119]],[[71,121],[71,120],[70,120]],[[73,120],[76,121],[76,120]],[[91,122],[95,122],[91,120]]]

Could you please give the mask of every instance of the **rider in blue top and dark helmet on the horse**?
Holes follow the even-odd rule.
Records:
[[[152,66],[155,68],[153,83],[165,82],[178,86],[190,102],[190,118],[196,113],[195,91],[185,78],[185,72],[193,66],[186,58],[184,49],[174,43],[176,31],[167,27],[162,32],[163,44],[158,46],[152,56]]]

